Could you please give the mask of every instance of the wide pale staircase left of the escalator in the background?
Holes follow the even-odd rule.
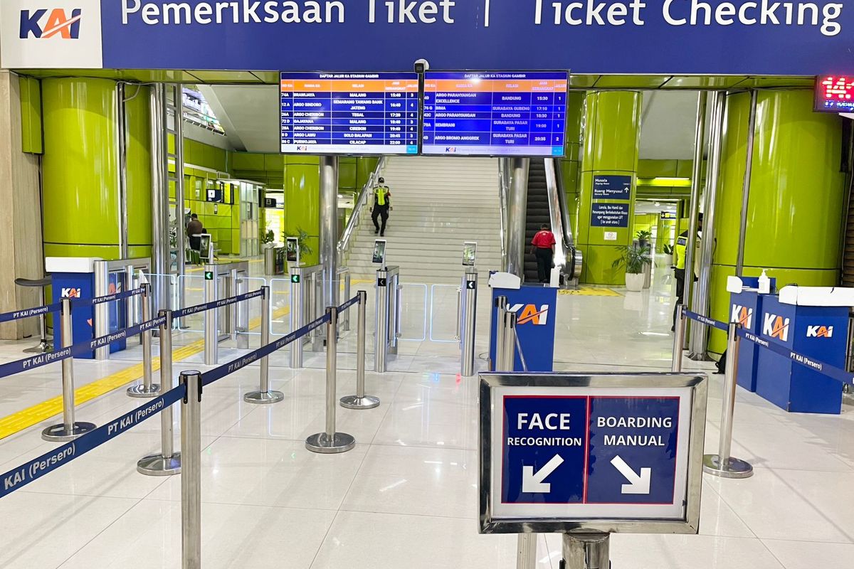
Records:
[[[463,242],[477,241],[477,269],[501,266],[498,160],[393,157],[383,172],[391,189],[385,231],[386,263],[400,265],[401,282],[459,283]],[[371,198],[371,205],[373,199]],[[362,212],[348,267],[354,277],[374,278],[371,214]]]

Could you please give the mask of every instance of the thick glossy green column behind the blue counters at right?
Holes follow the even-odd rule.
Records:
[[[842,123],[812,106],[811,90],[760,90],[757,96],[744,275],[767,269],[778,287],[839,281]],[[727,97],[710,288],[711,316],[722,321],[728,320],[727,276],[735,274],[738,257],[749,116],[749,93]],[[724,334],[711,334],[709,348],[723,351]]]

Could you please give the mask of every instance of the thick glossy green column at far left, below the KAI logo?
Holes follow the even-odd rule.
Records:
[[[133,91],[132,87],[129,87]],[[115,82],[46,78],[42,202],[45,256],[119,258]],[[127,105],[129,254],[151,254],[148,96]]]

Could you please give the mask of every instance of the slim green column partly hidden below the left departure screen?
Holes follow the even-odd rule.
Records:
[[[312,252],[303,254],[302,264],[320,262],[320,160],[317,156],[284,157],[284,232],[308,234]]]

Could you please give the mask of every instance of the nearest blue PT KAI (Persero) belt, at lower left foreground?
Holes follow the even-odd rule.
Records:
[[[90,433],[75,438],[67,444],[63,444],[44,455],[25,462],[20,467],[13,468],[7,473],[0,474],[3,479],[0,485],[0,497],[11,494],[28,485],[33,480],[39,479],[56,468],[61,467],[75,458],[85,455],[92,449],[96,449],[111,438],[119,436],[128,429],[136,427],[139,423],[149,419],[184,398],[187,391],[186,386],[175,387],[172,391],[164,393],[159,398],[151,399],[144,405],[140,405],[125,415],[110,421],[102,427],[98,427]]]

